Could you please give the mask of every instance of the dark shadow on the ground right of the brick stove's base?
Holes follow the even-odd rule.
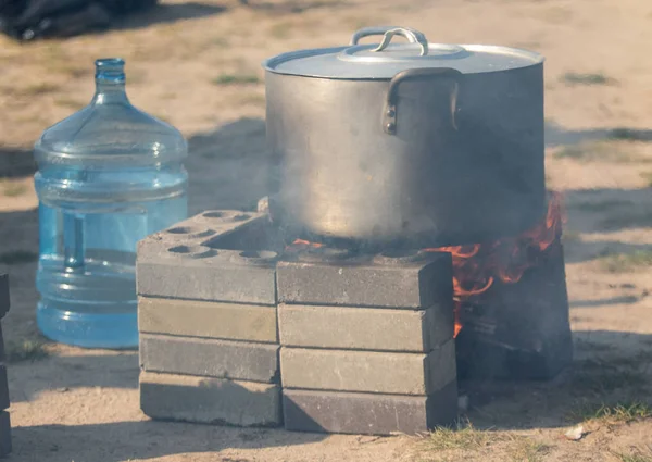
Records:
[[[573,337],[572,366],[550,382],[462,382],[474,426],[556,428],[581,422],[602,404],[650,402],[652,335],[580,330]]]

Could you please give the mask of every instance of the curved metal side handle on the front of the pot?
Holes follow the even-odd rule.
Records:
[[[451,91],[451,125],[454,129],[457,129],[455,111],[457,109],[457,92],[460,90],[461,76],[462,73],[460,71],[450,67],[409,68],[394,75],[389,82],[387,101],[384,108],[385,112],[383,113],[383,129],[385,133],[388,135],[396,135],[397,133],[399,86],[405,80],[417,77],[440,77],[453,80],[453,90]]]

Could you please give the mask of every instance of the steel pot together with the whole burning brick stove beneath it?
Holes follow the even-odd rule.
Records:
[[[402,27],[266,61],[268,200],[139,245],[146,414],[418,433],[569,364],[542,63]]]

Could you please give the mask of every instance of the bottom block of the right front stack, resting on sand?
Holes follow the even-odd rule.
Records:
[[[289,430],[417,434],[455,422],[457,384],[427,397],[284,389],[283,410]]]

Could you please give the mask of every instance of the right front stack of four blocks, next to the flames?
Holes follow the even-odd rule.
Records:
[[[424,258],[278,263],[287,429],[415,434],[455,421],[451,257]]]

